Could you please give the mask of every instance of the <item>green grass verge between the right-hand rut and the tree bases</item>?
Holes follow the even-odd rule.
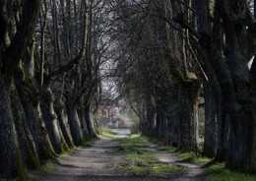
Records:
[[[255,181],[255,175],[249,175],[237,171],[231,171],[224,168],[224,163],[214,162],[208,157],[201,157],[193,152],[181,151],[169,146],[160,146],[160,151],[170,151],[175,153],[182,161],[197,163],[205,167],[205,176],[207,181]]]

